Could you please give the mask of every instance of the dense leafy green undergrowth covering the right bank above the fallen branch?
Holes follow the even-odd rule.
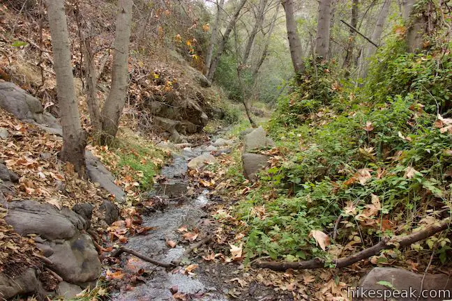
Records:
[[[338,242],[370,245],[391,235],[384,221],[419,222],[446,204],[452,137],[435,121],[451,93],[451,54],[382,49],[379,57],[362,88],[339,85],[320,68],[311,83],[308,68],[301,87],[280,98],[269,130],[285,148],[261,173],[259,190],[234,208],[249,232],[247,256],[328,260],[309,233],[331,238],[339,215]]]

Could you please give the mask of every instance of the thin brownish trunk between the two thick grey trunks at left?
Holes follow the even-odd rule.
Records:
[[[100,119],[100,103],[97,97],[97,76],[94,67],[94,56],[91,52],[91,43],[89,38],[82,41],[85,80],[86,80],[86,103],[88,104],[89,118],[94,132],[102,130],[102,121]]]

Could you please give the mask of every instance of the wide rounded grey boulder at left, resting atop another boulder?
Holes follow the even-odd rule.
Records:
[[[87,229],[86,221],[72,210],[31,200],[10,202],[5,220],[20,235],[37,234],[45,240],[70,239]]]

